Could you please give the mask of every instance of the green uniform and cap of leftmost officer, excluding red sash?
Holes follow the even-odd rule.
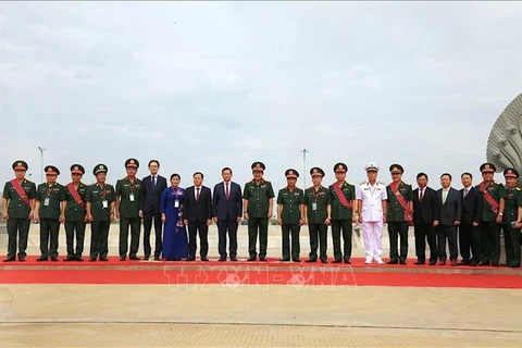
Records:
[[[16,161],[13,163],[13,170],[27,170],[27,163]],[[18,260],[24,261],[27,256],[27,238],[29,235],[29,213],[32,210],[30,200],[36,198],[36,185],[28,179],[20,183],[28,200],[26,203],[16,191],[11,182],[7,182],[3,187],[3,199],[8,202],[8,259],[4,261],[14,261],[16,258],[16,244],[18,247]]]

